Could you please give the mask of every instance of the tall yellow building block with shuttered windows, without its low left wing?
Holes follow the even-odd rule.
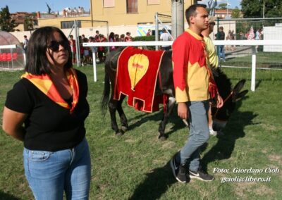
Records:
[[[184,8],[197,1],[184,1]],[[154,23],[155,13],[171,15],[171,0],[92,0],[92,18],[109,25]]]

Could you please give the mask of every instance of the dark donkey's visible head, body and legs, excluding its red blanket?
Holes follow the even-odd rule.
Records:
[[[128,130],[128,120],[123,112],[122,102],[125,98],[121,96],[120,100],[114,99],[114,87],[116,81],[116,68],[118,63],[118,56],[121,54],[123,48],[118,48],[115,51],[111,51],[105,61],[105,75],[104,75],[104,92],[102,96],[102,111],[106,113],[106,105],[109,106],[109,112],[111,115],[111,128],[115,131],[116,135],[123,135]],[[147,50],[149,51],[149,50]],[[154,54],[154,51],[150,52]],[[168,118],[173,111],[173,106],[176,104],[175,89],[173,86],[173,67],[171,61],[171,51],[165,51],[161,58],[161,65],[159,68],[159,76],[157,80],[160,84],[156,85],[155,95],[166,94],[168,96],[166,107],[164,109],[164,115],[159,123],[159,139],[166,139],[165,128],[168,123]],[[213,128],[214,130],[222,130],[225,127],[228,118],[235,109],[235,102],[242,99],[247,90],[240,92],[245,85],[245,80],[240,80],[235,87],[231,87],[231,81],[228,77],[217,68],[214,70],[214,79],[219,87],[219,94],[224,101],[223,107],[220,109],[212,108],[213,116]],[[111,87],[111,88],[110,88]],[[111,92],[111,96],[110,95]],[[116,111],[121,118],[121,129],[118,128],[116,123]],[[188,123],[185,123],[188,125]]]

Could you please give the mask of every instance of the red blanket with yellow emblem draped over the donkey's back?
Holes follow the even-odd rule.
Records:
[[[128,96],[128,106],[138,111],[159,111],[161,98],[154,98],[164,51],[147,51],[128,46],[118,58],[114,99]],[[159,101],[160,100],[160,101]]]

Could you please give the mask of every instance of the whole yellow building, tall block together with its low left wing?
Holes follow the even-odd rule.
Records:
[[[38,18],[39,27],[52,25],[70,28],[68,22],[82,20],[80,27],[99,27],[107,21],[109,26],[154,24],[156,12],[171,15],[171,0],[91,0],[87,15],[56,15],[53,18]],[[184,1],[184,8],[196,4],[195,0]],[[87,23],[87,21],[91,21]],[[71,23],[69,23],[71,25]]]

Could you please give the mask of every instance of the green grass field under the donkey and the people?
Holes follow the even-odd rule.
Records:
[[[192,180],[181,184],[174,179],[168,161],[188,137],[188,130],[174,110],[166,127],[168,139],[159,141],[161,113],[146,114],[123,104],[130,130],[116,137],[109,113],[102,117],[100,99],[104,66],[97,66],[98,81],[93,81],[91,66],[79,68],[87,74],[90,115],[85,125],[92,157],[90,199],[282,199],[282,71],[257,70],[257,87],[236,105],[224,135],[211,137],[202,148],[202,167],[214,175],[213,182]],[[223,68],[233,85],[247,80],[250,69]],[[0,112],[6,92],[22,71],[0,72]],[[1,114],[0,114],[1,118]],[[25,180],[23,143],[0,130],[0,199],[32,199]],[[220,172],[216,169],[224,169]],[[260,173],[233,170],[259,169]],[[266,168],[278,169],[269,173]],[[264,177],[270,182],[238,182],[239,177]],[[223,180],[237,182],[223,182]]]

